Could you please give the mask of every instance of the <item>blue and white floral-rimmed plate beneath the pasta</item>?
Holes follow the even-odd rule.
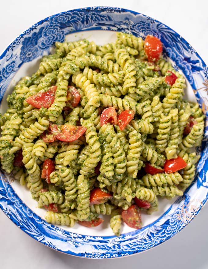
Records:
[[[0,112],[6,111],[6,96],[25,75],[39,67],[39,59],[53,50],[55,41],[87,38],[97,44],[115,41],[116,31],[145,37],[154,35],[164,44],[164,57],[186,77],[187,98],[197,100],[208,116],[208,68],[198,53],[175,31],[161,22],[130,10],[91,7],[62,12],[46,18],[22,33],[0,56]],[[25,233],[50,248],[81,257],[113,258],[142,252],[161,244],[190,223],[208,198],[208,127],[194,183],[183,197],[161,199],[159,211],[143,214],[143,228],[126,225],[121,236],[112,235],[107,221],[96,228],[76,224],[73,228],[46,223],[45,210],[37,208],[26,187],[0,173],[0,208]]]

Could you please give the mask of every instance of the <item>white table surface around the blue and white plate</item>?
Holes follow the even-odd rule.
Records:
[[[50,4],[49,4],[50,3]],[[105,0],[1,1],[0,51],[32,24],[52,14],[84,6],[116,6],[162,21],[183,36],[208,64],[206,1]],[[90,260],[56,252],[18,229],[0,210],[0,268],[208,268],[208,204],[179,234],[162,245],[130,257]]]

